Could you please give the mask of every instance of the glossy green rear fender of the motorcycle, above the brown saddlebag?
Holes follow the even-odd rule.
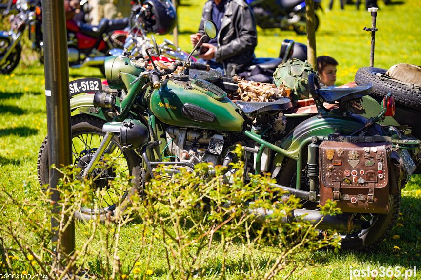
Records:
[[[354,113],[349,117],[328,116],[318,118],[313,116],[290,131],[278,146],[289,151],[293,157],[299,158],[301,156],[300,144],[302,142],[308,141],[313,136],[327,136],[335,132],[349,135],[364,126],[367,120],[367,118]],[[386,135],[378,124],[371,126],[368,131],[372,135]],[[283,158],[283,155],[275,154],[274,164],[281,163]]]

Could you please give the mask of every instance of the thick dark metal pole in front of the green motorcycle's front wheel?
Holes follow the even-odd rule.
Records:
[[[42,1],[42,29],[44,43],[45,96],[47,103],[48,159],[57,168],[71,164],[71,129],[69,65],[67,62],[67,34],[63,0]],[[53,202],[59,201],[57,183],[60,173],[50,169],[50,189]],[[60,209],[56,208],[56,213]],[[57,220],[51,218],[53,242],[57,242]],[[71,254],[75,249],[75,224],[62,233],[61,251]],[[55,246],[53,245],[53,250]],[[57,253],[57,252],[56,252]]]

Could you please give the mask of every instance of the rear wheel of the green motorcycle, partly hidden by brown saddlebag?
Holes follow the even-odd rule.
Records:
[[[306,160],[303,160],[306,162]],[[296,185],[296,162],[290,159],[284,159],[283,167],[277,177],[278,184],[295,188]],[[306,189],[306,182],[303,178],[303,187]],[[365,249],[381,241],[390,234],[390,230],[396,224],[399,214],[401,192],[395,195],[389,195],[389,213],[388,214],[365,214],[355,213],[354,220],[366,224],[365,229],[356,229],[351,233],[339,232],[341,234],[341,248],[343,249]],[[307,204],[305,204],[307,206]],[[315,208],[317,209],[317,208]]]

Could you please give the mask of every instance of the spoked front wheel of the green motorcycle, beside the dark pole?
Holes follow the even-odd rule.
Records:
[[[84,168],[91,161],[100,146],[105,132],[102,126],[105,121],[92,116],[76,115],[72,117],[72,161],[81,168],[76,179],[81,180]],[[49,182],[48,139],[42,143],[38,156],[38,178],[41,185]],[[132,178],[130,178],[132,176]],[[76,217],[80,219],[104,220],[113,215],[116,208],[130,194],[140,189],[140,164],[134,151],[123,150],[118,137],[115,136],[105,149],[97,168],[89,174],[92,180],[92,192],[89,199],[81,205]],[[117,179],[117,186],[111,181]],[[127,204],[125,204],[127,205]]]

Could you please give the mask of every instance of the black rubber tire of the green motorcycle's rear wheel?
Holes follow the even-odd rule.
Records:
[[[282,168],[278,174],[278,184],[289,187],[293,176],[295,175],[296,162],[285,158],[282,162]],[[376,224],[360,238],[342,240],[342,249],[366,250],[374,247],[378,241],[390,236],[390,231],[395,226],[398,219],[399,207],[401,204],[401,192],[396,195],[390,195],[391,208],[389,214],[379,214]],[[378,224],[378,222],[381,222]]]

